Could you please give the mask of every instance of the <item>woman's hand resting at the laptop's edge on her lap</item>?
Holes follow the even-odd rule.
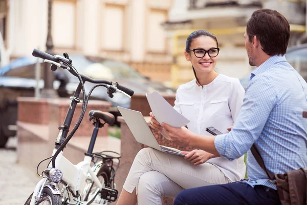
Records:
[[[182,152],[182,154],[185,154],[184,157],[187,160],[190,160],[193,165],[201,165],[202,163],[205,163],[212,157],[214,157],[214,154],[211,154],[209,152],[206,152],[204,150],[193,150],[191,152]]]

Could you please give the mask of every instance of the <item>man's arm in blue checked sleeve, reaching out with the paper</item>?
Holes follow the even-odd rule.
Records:
[[[267,119],[277,103],[277,90],[269,76],[259,75],[251,79],[244,97],[244,104],[228,134],[201,136],[186,128],[165,127],[171,140],[182,146],[192,146],[228,160],[245,154],[260,136]]]

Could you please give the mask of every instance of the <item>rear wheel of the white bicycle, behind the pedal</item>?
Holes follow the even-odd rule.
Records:
[[[111,169],[109,167],[107,167],[107,166],[102,166],[100,168],[100,170],[98,171],[98,173],[97,173],[97,178],[99,179],[102,187],[105,187],[106,185],[109,184],[109,178],[110,177],[111,177]],[[89,194],[86,197],[86,200],[91,198],[95,194],[97,188],[98,187],[95,185],[95,182],[93,181],[92,185],[91,185],[91,188],[90,188],[90,192],[89,192]],[[113,185],[112,185],[112,188],[113,188]],[[94,202],[95,203],[101,203],[102,200],[104,200],[104,199],[101,199],[100,198],[100,194],[98,194],[96,196]]]

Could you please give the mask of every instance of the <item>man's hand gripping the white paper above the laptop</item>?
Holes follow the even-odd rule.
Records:
[[[167,135],[174,144],[180,146],[189,146],[190,138],[194,134],[190,130],[185,127],[174,128],[165,124],[164,122],[162,123],[162,127],[165,129]]]

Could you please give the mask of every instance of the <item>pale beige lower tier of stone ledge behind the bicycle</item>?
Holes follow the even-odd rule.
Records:
[[[56,136],[50,138],[49,126],[17,122],[17,162],[33,172],[38,163],[51,156]],[[64,149],[63,155],[75,165],[82,161],[87,151],[91,136],[74,136]],[[120,139],[111,136],[97,137],[94,152],[115,151],[120,153]],[[47,163],[40,165],[39,172],[47,167]],[[116,162],[116,161],[115,161]]]

